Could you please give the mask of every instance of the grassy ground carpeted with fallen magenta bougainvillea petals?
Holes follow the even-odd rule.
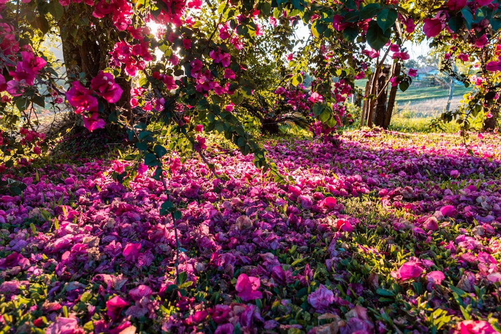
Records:
[[[27,188],[0,195],[0,330],[499,332],[501,146],[479,137],[270,141],[288,183],[218,147],[219,178],[173,158],[166,192],[114,182],[119,160],[3,175]]]

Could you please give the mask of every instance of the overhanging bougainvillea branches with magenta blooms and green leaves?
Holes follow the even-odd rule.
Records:
[[[205,131],[224,132],[242,152],[258,152],[259,164],[264,165],[264,153],[232,112],[256,88],[247,73],[247,60],[262,34],[263,20],[272,26],[302,23],[310,28],[306,46],[287,57],[288,82],[297,86],[305,72],[313,75],[312,92],[320,98],[312,111],[325,130],[338,126],[344,113],[343,98],[336,93],[339,85],[349,86],[355,77],[371,71],[370,59],[378,60],[377,72],[385,60],[408,58],[403,42],[412,37],[416,24],[434,45],[448,48],[462,61],[479,62],[479,77],[492,77],[489,73],[497,72],[498,62],[498,12],[497,3],[487,0],[446,4],[4,1],[2,112],[8,118],[12,113],[8,106],[25,113],[35,104],[64,99],[90,130],[108,121],[124,121],[138,147],[152,154],[148,163],[160,165],[166,150],[160,148],[159,133],[146,124],[131,123],[131,107],[140,107],[160,124],[155,129],[166,125],[183,135],[177,146],[200,146],[201,136],[197,139],[194,130],[203,124]],[[293,36],[293,29],[282,31]],[[40,40],[49,33],[62,37],[66,78],[57,75],[40,43],[34,43],[35,36]],[[286,37],[281,40],[291,43]],[[333,82],[333,77],[338,79]],[[70,83],[67,92],[58,85],[60,79]],[[391,78],[391,84],[405,90],[410,79],[402,72]],[[495,79],[486,81],[481,96],[469,103],[472,110],[487,108],[486,115],[496,115],[491,103],[496,99],[495,85]]]

